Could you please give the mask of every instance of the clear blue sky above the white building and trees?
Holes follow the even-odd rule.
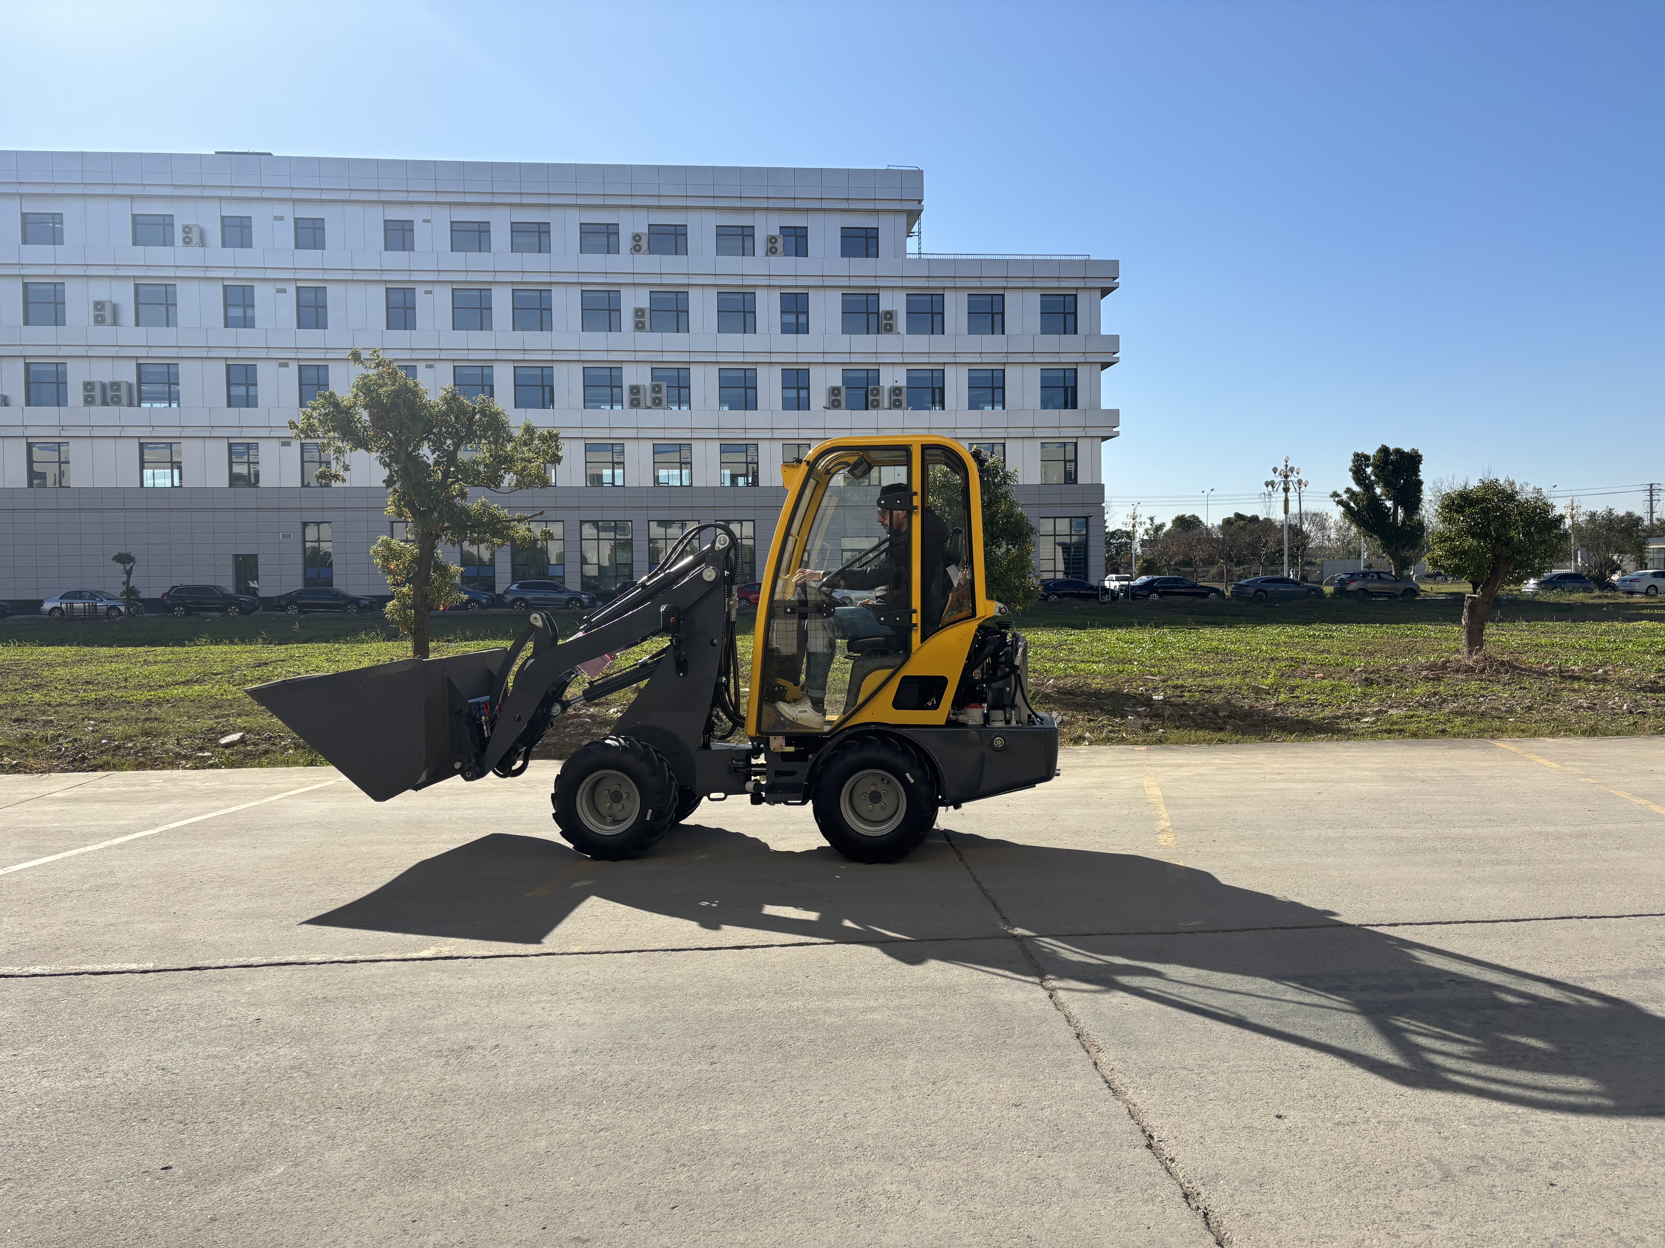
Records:
[[[1122,261],[1117,513],[1254,509],[1285,454],[1322,499],[1384,441],[1665,479],[1658,0],[65,2],[7,42],[5,146],[921,165],[931,251]]]

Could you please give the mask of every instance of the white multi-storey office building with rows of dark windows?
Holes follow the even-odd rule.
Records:
[[[385,592],[366,456],[288,421],[380,348],[561,431],[558,534],[468,582],[608,591],[696,521],[768,551],[781,464],[944,433],[1017,469],[1042,576],[1102,567],[1117,263],[911,251],[917,170],[0,151],[0,597]]]

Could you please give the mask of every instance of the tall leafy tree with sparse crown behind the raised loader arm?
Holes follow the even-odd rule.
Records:
[[[290,421],[296,438],[318,439],[331,466],[318,481],[346,479],[340,468],[350,451],[368,451],[386,469],[388,516],[406,521],[406,541],[381,537],[370,551],[393,587],[386,616],[411,639],[411,654],[428,657],[430,612],[456,602],[458,569],[438,556],[441,544],[504,546],[533,542],[531,518],[490,499],[470,501],[475,489],[538,489],[561,463],[561,436],[531,421],[511,429],[490,398],[466,399],[455,386],[428,398],[380,351],[348,351],[363,373],[346,394],[325,391]]]

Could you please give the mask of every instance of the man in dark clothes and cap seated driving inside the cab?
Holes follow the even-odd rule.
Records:
[[[826,589],[872,589],[872,597],[862,599],[854,607],[834,607],[829,621],[813,619],[808,622],[808,672],[803,696],[794,701],[776,702],[774,709],[794,724],[823,730],[826,726],[826,689],[828,674],[832,669],[832,654],[839,641],[864,641],[869,637],[899,641],[896,629],[906,631],[911,621],[912,606],[912,491],[906,483],[892,483],[879,491],[879,527],[884,537],[852,561],[856,567],[837,572],[824,569],[801,567],[793,574],[793,586],[801,587],[818,584]],[[929,506],[924,509],[924,521],[919,531],[921,562],[921,602],[919,639],[924,641],[941,627],[942,612],[947,606],[954,582],[947,574],[947,522]],[[882,547],[882,552],[881,552]],[[867,562],[866,556],[881,552],[876,561]],[[862,566],[866,564],[866,566]]]

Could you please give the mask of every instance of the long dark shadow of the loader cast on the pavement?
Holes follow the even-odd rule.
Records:
[[[749,934],[864,943],[909,965],[1009,975],[1007,938],[984,935],[987,904],[957,850],[1066,1000],[1124,993],[1410,1088],[1665,1117],[1665,1018],[1618,997],[1354,927],[1157,859],[952,830],[947,840],[952,849],[932,834],[907,864],[861,867],[829,847],[781,852],[706,825],[683,825],[631,862],[493,834],[306,922],[538,945],[598,897],[734,932],[741,943]]]

